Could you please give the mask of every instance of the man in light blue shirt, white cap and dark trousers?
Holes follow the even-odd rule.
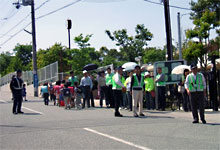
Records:
[[[80,81],[80,86],[83,90],[83,106],[82,108],[85,108],[85,103],[87,102],[87,107],[90,107],[90,93],[92,91],[93,83],[91,78],[88,76],[88,72],[86,70],[83,71],[84,77],[82,77]]]

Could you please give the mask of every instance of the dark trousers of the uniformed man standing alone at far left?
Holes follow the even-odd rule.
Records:
[[[13,92],[13,108],[12,112],[21,112],[21,105],[22,105],[22,91]]]

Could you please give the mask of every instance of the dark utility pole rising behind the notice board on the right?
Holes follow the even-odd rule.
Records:
[[[163,4],[164,4],[164,15],[165,15],[165,23],[166,23],[165,26],[166,26],[167,55],[168,55],[167,60],[173,60],[169,0],[163,0]]]

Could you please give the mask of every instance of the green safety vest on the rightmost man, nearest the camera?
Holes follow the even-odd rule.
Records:
[[[204,85],[202,81],[202,74],[197,73],[196,74],[196,81],[193,77],[193,74],[188,75],[188,84],[189,84],[189,91],[190,92],[196,92],[196,91],[203,91],[204,90]]]

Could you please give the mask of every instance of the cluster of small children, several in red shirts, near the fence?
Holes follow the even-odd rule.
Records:
[[[45,105],[49,104],[50,96],[50,100],[54,102],[54,105],[64,106],[65,109],[82,108],[82,89],[79,87],[78,82],[74,82],[74,86],[71,86],[71,83],[65,82],[65,80],[62,82],[57,81],[55,85],[44,83],[41,86],[41,94]]]

